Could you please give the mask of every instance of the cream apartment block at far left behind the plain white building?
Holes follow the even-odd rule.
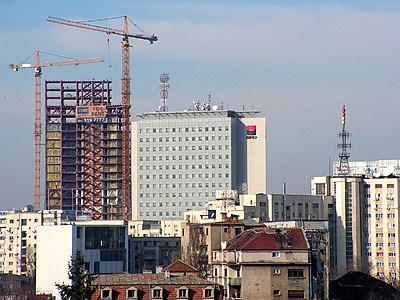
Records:
[[[22,211],[0,212],[0,273],[34,276],[37,228],[76,219],[77,216],[72,211],[34,212],[29,207]]]

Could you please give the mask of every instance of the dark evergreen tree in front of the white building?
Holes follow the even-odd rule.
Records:
[[[92,297],[95,288],[92,287],[94,277],[85,270],[85,260],[78,252],[68,262],[68,278],[71,284],[58,284],[56,287],[63,300],[86,300]]]

